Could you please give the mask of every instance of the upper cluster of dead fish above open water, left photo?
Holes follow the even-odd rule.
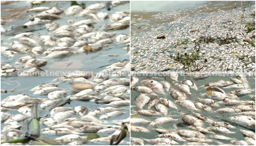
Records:
[[[113,1],[112,6],[124,3],[122,1],[117,2]],[[23,26],[6,30],[6,32],[4,31],[6,35],[15,35],[10,36],[9,39],[16,39],[16,41],[7,44],[7,46],[1,45],[1,55],[6,57],[14,57],[20,53],[27,54],[21,57],[15,64],[29,69],[22,70],[16,68],[16,65],[1,62],[1,77],[39,76],[41,72],[44,72],[39,67],[45,66],[48,62],[46,58],[67,57],[84,52],[97,52],[113,43],[125,44],[124,48],[129,50],[130,36],[128,34],[121,34],[113,38],[116,33],[107,32],[108,30],[129,28],[129,12],[116,12],[114,14],[98,12],[105,8],[105,6],[105,3],[96,3],[83,9],[78,5],[74,5],[65,11],[57,7],[36,7],[29,9],[29,12],[38,14],[35,14],[34,18],[31,18]],[[59,16],[62,13],[78,18],[86,17],[87,19],[78,22],[70,20],[71,25],[59,26],[54,20],[62,19]],[[106,31],[97,31],[96,28],[94,29],[92,27],[97,22],[106,20],[114,22],[113,24],[106,23],[102,26],[102,29]],[[27,32],[37,29],[40,30],[42,27],[39,27],[39,25],[42,24],[45,24],[45,29],[50,31],[51,35],[38,35],[36,31]],[[2,43],[4,43],[4,40]]]

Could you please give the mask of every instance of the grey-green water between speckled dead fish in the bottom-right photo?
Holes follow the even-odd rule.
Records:
[[[136,84],[134,85],[133,87],[136,87],[136,86],[144,86],[142,84],[142,80],[146,80],[146,79],[152,79],[152,80],[155,80],[155,81],[165,81],[165,76],[163,76],[163,74],[153,74],[153,73],[149,73],[149,74],[134,74],[135,76],[137,76],[139,78],[139,84]],[[185,74],[179,74],[179,77],[178,77],[178,81],[177,82],[180,82],[180,81],[183,81],[185,79],[189,79],[189,80],[192,80],[195,82],[197,88],[198,88],[198,91],[196,91],[195,89],[192,89],[191,88],[191,93],[192,95],[188,95],[187,94],[187,98],[188,100],[191,100],[191,101],[199,101],[199,99],[201,98],[204,98],[202,96],[200,96],[200,94],[202,93],[206,93],[206,89],[203,89],[203,88],[199,88],[200,86],[204,85],[204,84],[208,84],[209,82],[215,82],[215,81],[218,81],[218,80],[225,80],[225,81],[230,81],[230,77],[233,77],[233,78],[237,78],[234,74],[218,74],[217,76],[211,76],[211,77],[208,77],[206,78],[205,80],[198,80],[198,81],[195,81],[193,80],[193,77],[195,76],[196,74],[192,74],[191,76],[189,75],[185,75]],[[158,78],[152,78],[152,77],[158,77]],[[169,77],[167,77],[169,78]],[[251,74],[250,77],[246,77],[248,82],[249,82],[249,87],[251,88],[255,88],[255,74]],[[174,80],[171,80],[169,79],[170,81],[174,81]],[[234,83],[233,83],[234,84]],[[231,84],[231,85],[233,85]],[[171,88],[175,88],[174,85],[171,84]],[[226,93],[229,92],[229,91],[234,91],[236,89],[225,89],[225,88],[222,88]],[[171,91],[171,89],[170,89]],[[161,97],[164,97],[166,99],[169,99],[171,101],[174,101],[176,99],[172,98],[170,96],[170,91],[169,92],[166,92],[165,95],[161,96],[159,95],[158,97],[161,98]],[[131,91],[131,105],[135,105],[135,107],[131,108],[131,110],[140,110],[138,107],[136,107],[136,104],[135,104],[135,97],[138,96],[139,93],[135,92],[135,91]],[[255,95],[255,91],[253,91],[251,93],[251,95]],[[150,96],[150,97],[153,97],[153,96]],[[249,95],[244,95],[244,96],[240,96],[239,97],[240,100],[249,100],[249,101],[252,101],[252,99],[249,97]],[[217,101],[217,100],[215,100]],[[174,103],[175,104],[175,103]],[[225,107],[233,107],[233,106],[226,106],[226,105],[223,105],[223,104],[220,104],[221,107],[213,107],[214,110],[217,110],[219,108],[225,108]],[[180,123],[180,122],[183,122],[182,120],[182,115],[181,113],[184,113],[184,114],[192,114],[192,112],[195,112],[195,113],[200,113],[204,116],[208,116],[209,118],[211,117],[212,119],[216,120],[216,121],[221,121],[221,120],[217,120],[217,118],[223,118],[223,119],[227,119],[229,118],[230,116],[236,116],[236,115],[233,115],[232,113],[230,114],[219,114],[219,113],[213,113],[213,112],[207,112],[207,111],[202,111],[202,110],[198,110],[198,111],[193,111],[193,110],[187,110],[187,109],[184,109],[184,108],[180,108],[178,105],[178,111],[176,111],[174,108],[168,108],[168,115],[172,115],[171,117],[173,119],[178,119],[178,121],[173,121],[173,122],[170,122],[168,124],[163,124],[163,125],[157,125],[156,127],[157,128],[164,128],[164,129],[167,129],[167,130],[170,130],[170,129],[176,129],[174,127],[174,124],[177,125],[177,123]],[[143,107],[143,109],[147,109],[147,104]],[[154,107],[151,108],[151,110],[155,110]],[[146,120],[150,120],[150,121],[153,121],[155,118],[157,117],[161,117],[161,116],[142,116],[142,115],[135,115],[135,116],[132,116],[131,118],[143,118],[143,119],[146,119]],[[215,118],[216,117],[216,118]],[[148,128],[148,129],[151,129],[151,128],[156,128],[156,127],[149,127],[148,126],[149,123],[141,123],[141,124],[135,124],[135,125],[138,125],[138,126],[144,126],[145,128]],[[205,127],[210,127],[210,124],[204,122],[204,125]],[[184,127],[184,128],[179,128],[179,129],[188,129],[188,127]],[[242,127],[237,127],[236,129],[229,129],[230,131],[237,131],[236,134],[221,134],[221,135],[224,135],[226,137],[230,137],[230,138],[236,138],[238,140],[244,140],[244,135],[242,135],[242,133],[239,131],[239,129],[244,129],[246,130],[245,128],[242,128]],[[155,139],[157,138],[156,136],[158,135],[159,133],[154,131],[154,130],[151,130],[150,133],[137,133],[137,132],[131,132],[131,137],[136,137],[136,138],[142,138],[142,139]],[[209,134],[211,135],[211,134]],[[207,139],[212,139],[211,137],[208,137],[206,136],[205,138]],[[230,143],[230,140],[218,140],[222,143]],[[178,141],[177,141],[178,142]],[[184,142],[178,142],[180,145],[182,145]],[[154,145],[154,143],[151,143],[151,142],[146,142],[144,141],[144,144],[149,144],[149,145]],[[209,143],[210,145],[218,145],[218,143],[216,142],[211,142]]]

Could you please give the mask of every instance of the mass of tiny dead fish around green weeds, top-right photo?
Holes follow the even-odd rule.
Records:
[[[195,10],[190,9],[190,11]],[[154,26],[146,24],[142,26],[143,31],[146,32],[140,34],[140,31],[131,30],[132,35],[135,35],[131,39],[132,70],[135,73],[168,70],[187,72],[188,68],[171,59],[170,55],[175,58],[176,54],[192,53],[195,42],[199,42],[200,37],[213,37],[216,39],[214,42],[199,42],[200,55],[205,54],[202,60],[190,65],[189,71],[255,73],[255,62],[251,59],[255,57],[255,46],[249,43],[255,39],[255,30],[248,31],[246,26],[246,24],[255,24],[255,16],[251,15],[255,12],[255,5],[230,11],[220,9],[212,11],[204,5],[200,7],[200,12],[196,11],[193,16],[188,12],[162,12],[154,15],[155,19],[176,20]],[[150,22],[143,17],[131,20],[134,25],[136,22],[139,24],[145,21]],[[162,35],[165,36],[164,39],[157,39]],[[228,38],[230,41],[225,44],[219,43],[223,38]],[[188,43],[182,43],[187,41]],[[198,46],[196,48],[198,49]]]

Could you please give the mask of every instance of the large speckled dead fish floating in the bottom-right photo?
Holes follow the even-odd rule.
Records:
[[[230,81],[197,87],[198,80],[207,78],[213,74],[197,74],[194,81],[187,76],[181,82],[176,73],[131,76],[131,145],[255,145],[255,75],[250,77],[253,85],[246,74],[237,74]]]

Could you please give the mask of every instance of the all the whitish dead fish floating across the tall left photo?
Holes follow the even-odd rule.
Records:
[[[111,7],[115,7],[127,2],[112,1],[111,3]],[[10,35],[9,39],[16,39],[10,46],[1,46],[1,55],[6,57],[14,57],[16,54],[25,55],[15,65],[1,62],[1,77],[40,76],[45,70],[39,67],[47,65],[47,60],[44,58],[63,58],[83,52],[94,53],[113,43],[123,44],[123,47],[128,49],[129,35],[116,36],[113,30],[129,28],[129,12],[114,14],[111,14],[111,11],[109,11],[110,14],[100,12],[105,7],[105,3],[95,2],[95,4],[88,5],[85,9],[78,5],[71,6],[66,10],[57,7],[28,9],[27,11],[37,14],[24,26],[5,30],[6,32],[1,29],[1,34],[2,32],[7,33]],[[71,25],[59,26],[54,20],[62,19],[60,14],[63,12],[65,15],[84,17],[85,19],[72,22]],[[113,24],[103,26],[103,30],[106,31],[97,31],[93,27],[97,22],[108,20]],[[41,29],[41,27],[38,27],[39,24],[45,24],[45,29],[51,32],[48,33],[50,35],[37,34],[36,29]],[[25,30],[33,28],[33,32],[19,32],[18,30],[24,31],[24,29],[20,29],[21,27]],[[112,32],[107,32],[108,30],[112,30]],[[1,41],[4,42],[5,40]],[[46,57],[43,57],[45,55]],[[22,68],[29,69],[17,68],[20,65],[22,65]],[[108,143],[109,145],[112,135],[120,133],[123,122],[127,122],[129,129],[129,117],[114,120],[114,118],[123,115],[125,107],[130,105],[129,66],[129,61],[120,61],[106,66],[98,73],[74,71],[54,79],[52,83],[44,84],[42,82],[41,85],[30,90],[34,92],[34,95],[19,93],[1,99],[1,123],[3,124],[1,142],[25,135],[22,128],[26,125],[23,125],[23,121],[30,120],[31,107],[38,103],[39,111],[48,111],[49,113],[48,115],[38,115],[41,117],[41,124],[46,126],[41,130],[42,134],[46,136],[57,135],[59,137],[54,138],[54,140],[64,145],[83,145],[84,143]],[[74,94],[68,89],[58,87],[64,82],[88,82],[93,84],[94,88]],[[2,94],[6,92],[9,91],[1,90]],[[41,98],[34,96],[41,96]],[[72,105],[74,100],[87,102],[80,102],[79,105],[74,106]],[[91,102],[97,103],[97,107],[94,109],[86,107]],[[69,104],[72,107],[69,107]],[[9,111],[18,111],[19,114],[10,114]],[[104,135],[109,136],[87,141],[88,133],[99,135],[105,133]],[[129,142],[120,141],[120,143]],[[15,143],[15,145],[18,144],[22,145],[22,143]]]

